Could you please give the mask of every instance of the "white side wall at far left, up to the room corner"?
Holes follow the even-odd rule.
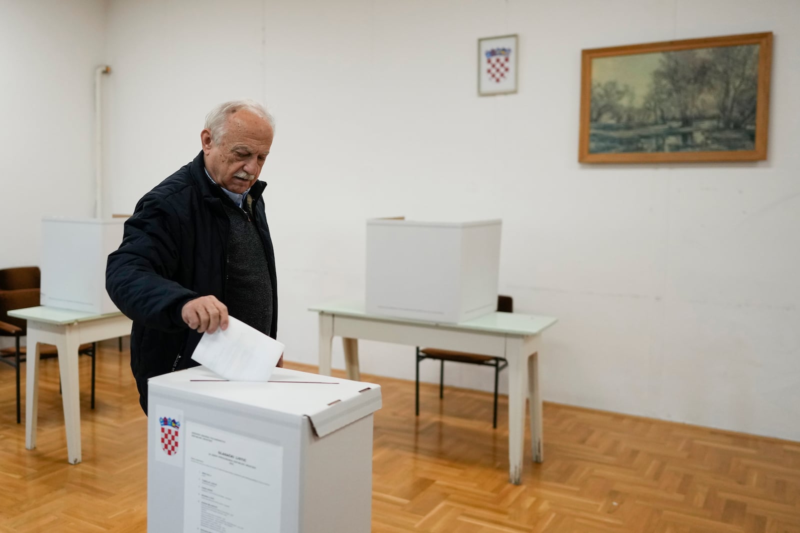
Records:
[[[0,268],[39,264],[44,216],[94,214],[104,0],[0,0]]]

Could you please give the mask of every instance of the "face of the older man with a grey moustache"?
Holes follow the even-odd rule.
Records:
[[[218,143],[203,129],[200,140],[211,178],[231,193],[250,189],[270,153],[272,135],[269,122],[244,109],[228,117],[226,133]]]

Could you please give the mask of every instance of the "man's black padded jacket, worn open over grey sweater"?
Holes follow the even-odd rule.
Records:
[[[266,183],[256,181],[249,194],[270,263],[270,335],[274,337],[278,331],[278,284],[262,199],[265,187]],[[223,199],[229,201],[206,176],[201,152],[142,197],[125,223],[122,245],[108,257],[106,290],[119,310],[134,321],[130,368],[145,412],[150,377],[197,365],[191,355],[202,333],[183,322],[183,305],[206,295],[225,303],[230,223]]]

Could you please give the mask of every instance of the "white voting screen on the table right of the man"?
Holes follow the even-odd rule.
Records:
[[[497,310],[502,221],[366,222],[366,312],[457,323]]]

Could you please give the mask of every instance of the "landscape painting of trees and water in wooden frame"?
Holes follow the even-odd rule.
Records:
[[[766,159],[772,33],[582,51],[578,161]]]

